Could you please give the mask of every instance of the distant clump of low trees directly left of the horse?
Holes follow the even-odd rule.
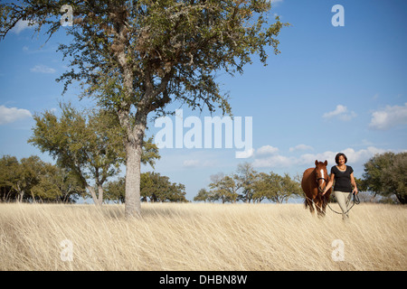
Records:
[[[292,196],[302,194],[300,182],[285,173],[283,176],[270,172],[256,172],[250,163],[241,163],[237,171],[224,175],[222,172],[211,176],[209,191],[201,189],[195,201],[259,202],[270,200],[282,203]]]

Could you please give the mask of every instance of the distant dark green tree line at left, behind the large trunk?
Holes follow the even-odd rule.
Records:
[[[185,185],[167,176],[143,172],[141,181],[142,201],[187,201]],[[74,172],[36,155],[20,161],[10,155],[0,158],[0,202],[75,203],[92,197],[87,189]],[[125,202],[125,178],[106,182],[102,189],[101,202]]]

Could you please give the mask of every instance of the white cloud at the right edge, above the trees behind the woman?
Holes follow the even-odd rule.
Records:
[[[383,110],[374,111],[369,126],[374,129],[386,130],[393,126],[407,124],[407,103],[403,107],[387,106]]]

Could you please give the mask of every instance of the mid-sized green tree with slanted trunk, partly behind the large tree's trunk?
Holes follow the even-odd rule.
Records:
[[[120,172],[125,162],[124,134],[117,116],[106,110],[79,111],[71,104],[61,104],[61,117],[51,111],[34,116],[35,126],[29,143],[47,152],[62,168],[71,172],[95,201],[101,203],[103,183]],[[154,166],[159,158],[152,138],[144,143],[142,162]],[[97,190],[90,186],[90,180]]]

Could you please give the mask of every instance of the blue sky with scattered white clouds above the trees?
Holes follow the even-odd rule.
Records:
[[[343,5],[345,26],[332,25],[333,5]],[[252,117],[251,156],[237,159],[235,148],[160,150],[156,172],[184,183],[188,200],[207,188],[212,174],[235,172],[239,163],[293,176],[316,159],[330,167],[343,152],[361,177],[374,154],[407,149],[407,2],[279,0],[273,1],[274,14],[291,23],[279,35],[281,53],[270,50],[266,67],[254,56],[243,75],[219,72],[233,115]],[[62,31],[44,44],[42,35],[20,23],[0,42],[0,154],[38,154],[53,163],[27,144],[33,114],[58,110],[60,100],[92,105],[79,101],[75,87],[62,97],[55,81],[67,65],[57,43],[66,41]],[[181,108],[184,119],[210,116]],[[147,135],[160,131],[152,122],[149,127]]]

